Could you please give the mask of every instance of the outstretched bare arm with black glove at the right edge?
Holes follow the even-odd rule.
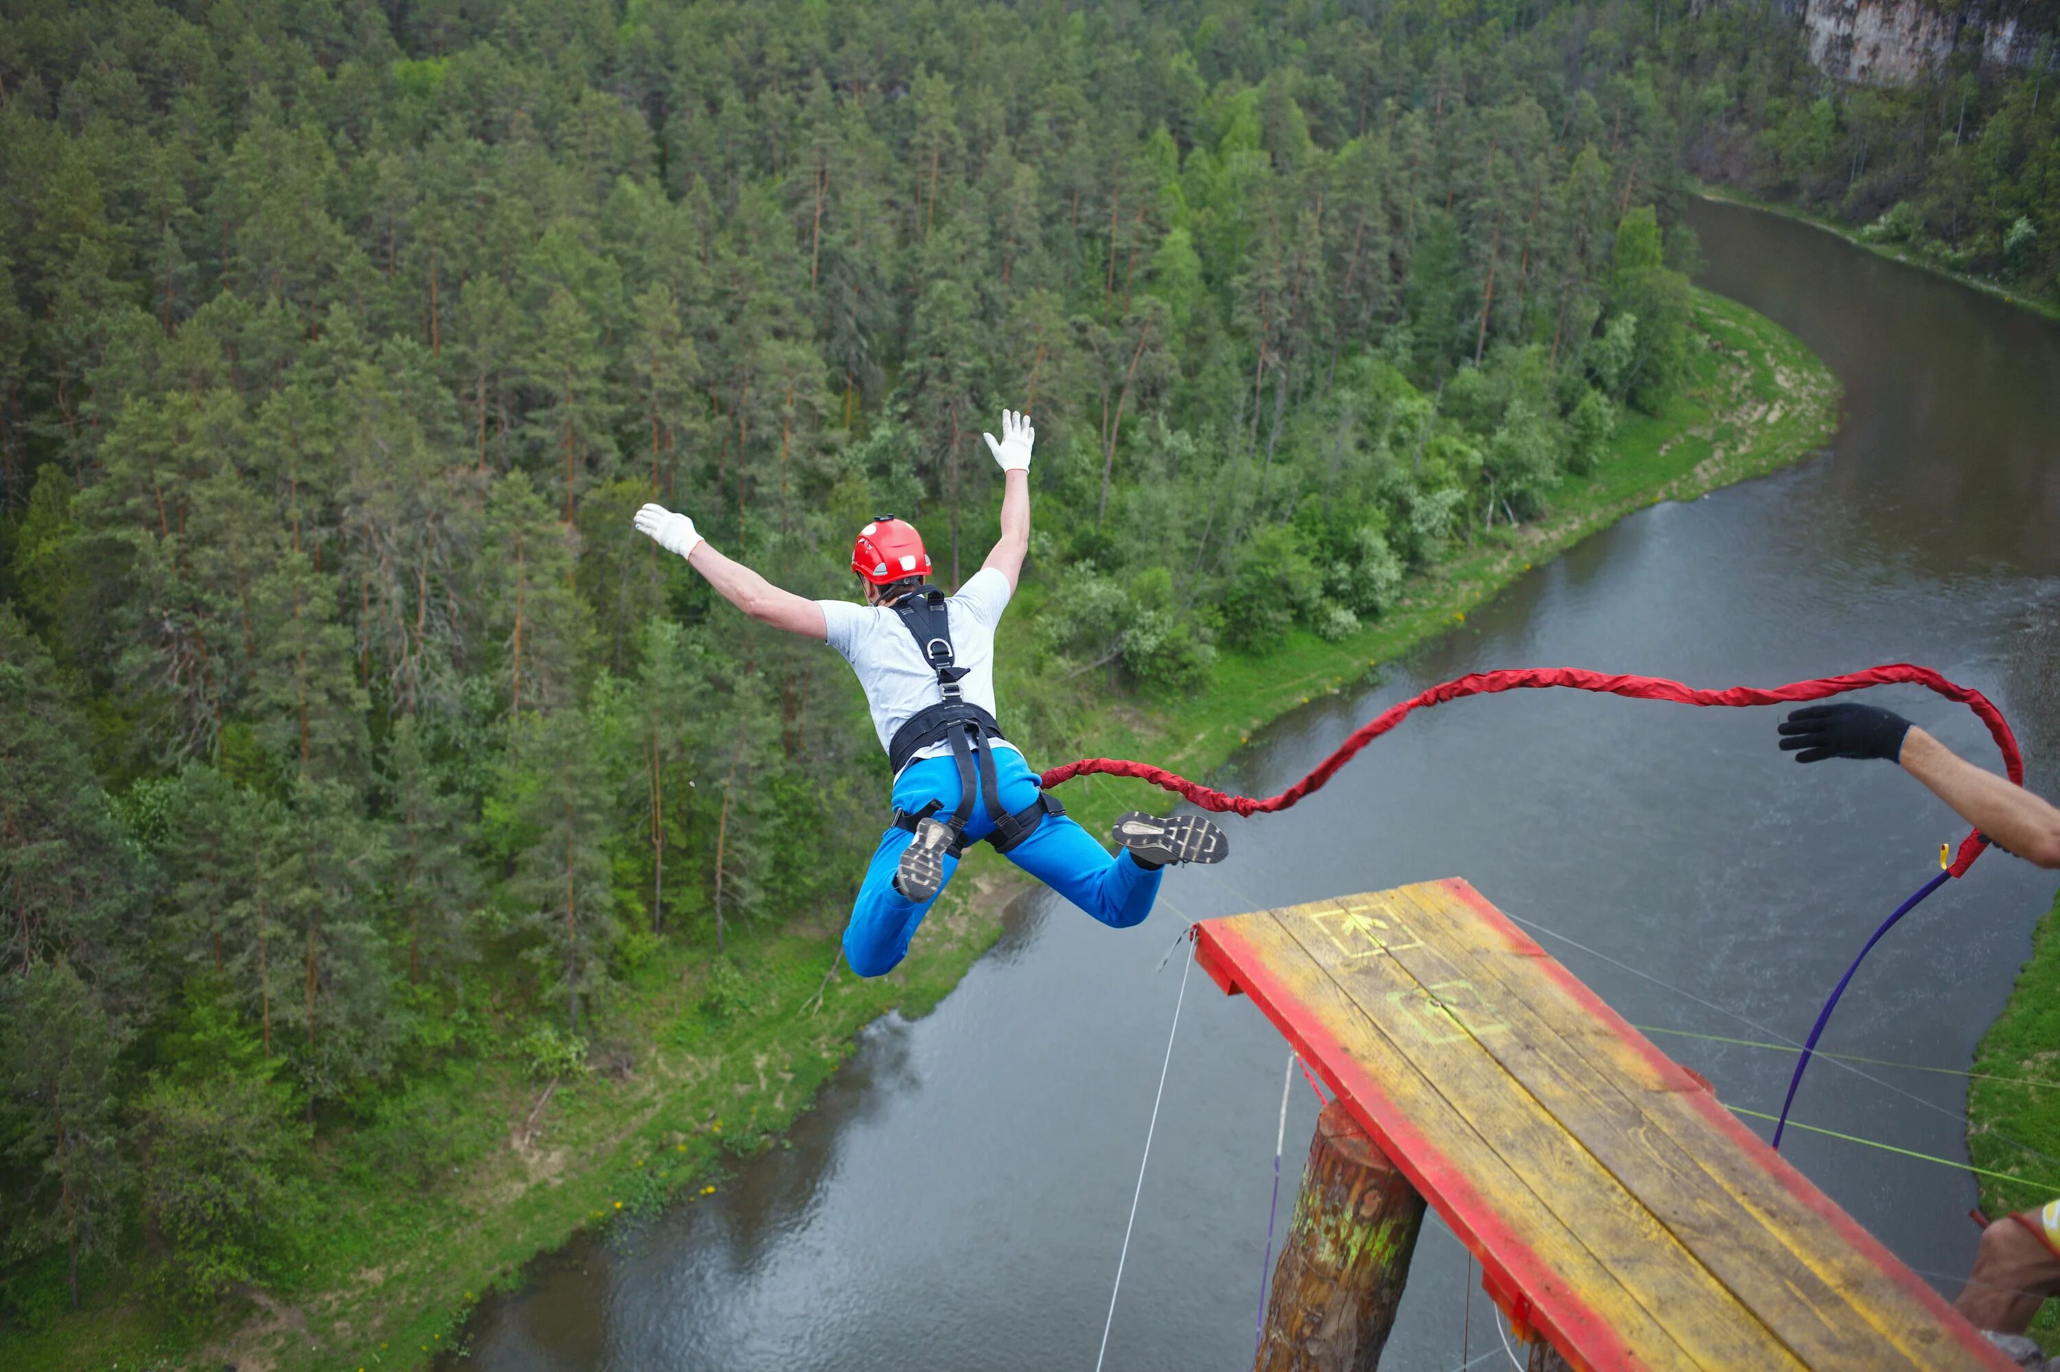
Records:
[[[2039,867],[2060,867],[2060,810],[2008,777],[1967,762],[1893,711],[1873,705],[1813,705],[1788,715],[1780,733],[1782,752],[1794,752],[1796,762],[1899,762],[2002,849]]]

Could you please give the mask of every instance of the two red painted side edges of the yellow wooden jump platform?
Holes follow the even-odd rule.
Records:
[[[1578,976],[1566,970],[1557,958],[1545,954],[1539,944],[1516,923],[1498,911],[1481,892],[1461,878],[1436,882],[1454,898],[1473,906],[1483,921],[1508,939],[1512,952],[1541,958],[1541,966],[1551,974],[1584,1009],[1605,1028],[1632,1044],[1652,1067],[1689,1090],[1683,1090],[1695,1110],[1716,1127],[1726,1139],[1741,1147],[1759,1168],[1782,1182],[1790,1195],[1802,1201],[1813,1213],[1829,1224],[1856,1253],[1870,1261],[1903,1294],[1924,1306],[1941,1327],[1949,1331],[1973,1362],[2006,1372],[2015,1364],[1980,1335],[1953,1306],[1930,1290],[1916,1273],[1889,1253],[1881,1240],[1868,1234],[1852,1215],[1840,1209],[1827,1195],[1796,1172],[1780,1154],[1767,1147],[1755,1133],[1745,1129],[1712,1092],[1685,1067],[1660,1053],[1652,1042],[1634,1030]],[[1250,995],[1252,1003],[1273,1022],[1283,1038],[1314,1063],[1331,1090],[1345,1100],[1351,1117],[1374,1137],[1380,1150],[1403,1170],[1403,1176],[1423,1193],[1432,1209],[1452,1228],[1463,1244],[1481,1263],[1481,1283],[1512,1306],[1510,1314],[1543,1333],[1559,1356],[1576,1372],[1619,1372],[1644,1368],[1646,1364],[1617,1337],[1617,1333],[1564,1281],[1559,1281],[1543,1259],[1487,1205],[1485,1197],[1473,1189],[1465,1172],[1380,1090],[1323,1020],[1302,999],[1271,972],[1265,956],[1246,944],[1228,919],[1207,919],[1195,925],[1195,960],[1228,995]],[[1520,1308],[1529,1306],[1529,1308]]]

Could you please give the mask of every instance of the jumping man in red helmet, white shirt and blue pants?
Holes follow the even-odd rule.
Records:
[[[1001,441],[983,435],[1001,464],[1001,540],[958,595],[929,585],[929,554],[915,525],[882,515],[859,529],[851,571],[865,606],[801,599],[731,562],[663,505],[637,511],[637,529],[678,552],[744,614],[822,639],[851,663],[894,773],[894,822],[880,836],[859,886],[845,960],[880,976],[906,954],[917,925],[943,892],[958,855],[983,838],[1011,863],[1112,929],[1143,923],[1166,863],[1215,863],[1230,843],[1201,816],[1133,810],[1117,820],[1114,859],[1065,816],[995,721],[995,626],[1016,593],[1030,550],[1030,445],[1024,414],[1003,410]]]

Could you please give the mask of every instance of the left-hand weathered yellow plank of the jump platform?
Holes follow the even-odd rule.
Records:
[[[1479,1205],[1500,1215],[1514,1240],[1539,1255],[1547,1271],[1561,1273],[1613,1329],[1640,1331],[1636,1360],[1594,1360],[1594,1366],[1800,1368],[1765,1327],[1737,1318],[1730,1294],[1644,1207],[1623,1203],[1623,1189],[1586,1150],[1547,1114],[1518,1104],[1508,1073],[1430,1005],[1390,958],[1368,960],[1355,979],[1376,985],[1347,991],[1308,958],[1277,915],[1234,923],[1343,1051],[1370,1067],[1393,1108],[1475,1178]],[[1440,1189],[1419,1189],[1444,1215]],[[1454,1228],[1477,1220],[1471,1207],[1448,1215]],[[1679,1279],[1669,1281],[1675,1273]],[[1669,1300],[1650,1298],[1660,1285],[1671,1288]],[[1566,1351],[1588,1353],[1578,1341]]]

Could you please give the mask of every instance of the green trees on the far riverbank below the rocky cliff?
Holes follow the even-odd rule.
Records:
[[[1819,72],[1778,6],[1704,6],[1652,45],[1687,167],[1790,204],[1860,243],[2060,311],[2060,105],[2052,6],[2025,66],[1988,62],[1980,25],[1910,84]]]

